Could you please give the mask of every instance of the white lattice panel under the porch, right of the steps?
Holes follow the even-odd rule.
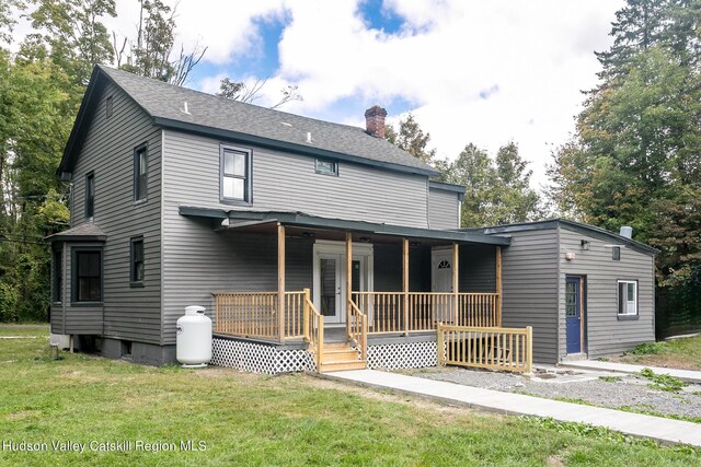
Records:
[[[437,349],[435,341],[368,346],[368,367],[398,370],[436,366]]]

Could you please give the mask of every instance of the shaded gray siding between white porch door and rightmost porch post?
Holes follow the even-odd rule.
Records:
[[[458,268],[460,292],[496,292],[496,247],[460,245]]]

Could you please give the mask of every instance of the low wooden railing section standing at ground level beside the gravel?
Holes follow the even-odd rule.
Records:
[[[533,331],[438,325],[438,364],[527,372],[532,370]],[[445,353],[444,353],[445,348]]]

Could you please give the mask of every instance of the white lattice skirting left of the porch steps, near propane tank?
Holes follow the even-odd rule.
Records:
[[[212,339],[211,364],[271,375],[317,371],[317,364],[307,350],[278,350],[275,346],[216,337]]]

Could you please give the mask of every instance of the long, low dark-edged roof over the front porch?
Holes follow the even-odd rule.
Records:
[[[279,222],[283,225],[329,229],[349,232],[371,233],[407,238],[429,238],[436,241],[476,243],[486,245],[509,245],[512,240],[505,236],[485,235],[479,232],[441,231],[434,229],[405,227],[401,225],[378,224],[365,221],[348,221],[344,219],[330,219],[309,215],[301,212],[274,212],[274,211],[240,211],[212,208],[197,208],[181,206],[180,214],[195,218],[210,218],[234,221],[231,227],[251,224],[267,224]]]

